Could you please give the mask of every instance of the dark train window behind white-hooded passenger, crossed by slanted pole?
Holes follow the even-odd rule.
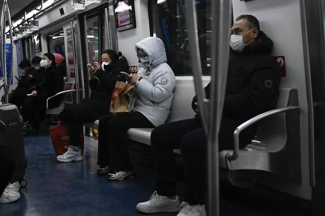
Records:
[[[211,12],[210,0],[195,0],[203,74],[210,71]],[[164,41],[167,61],[175,75],[191,75],[189,39],[185,17],[185,0],[149,1],[151,36]]]

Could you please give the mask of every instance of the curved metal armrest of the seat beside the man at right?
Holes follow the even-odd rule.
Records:
[[[255,117],[245,121],[243,124],[241,124],[240,126],[238,126],[236,128],[236,130],[234,131],[234,150],[233,153],[228,155],[228,160],[229,161],[234,161],[238,158],[239,156],[239,135],[241,134],[241,132],[247,128],[248,126],[266,118],[269,117],[271,115],[274,114],[278,114],[278,113],[282,113],[282,112],[287,112],[290,110],[296,110],[299,109],[298,106],[294,106],[294,107],[285,107],[285,108],[277,108],[277,109],[273,109],[267,112],[264,112],[262,114],[256,115]]]

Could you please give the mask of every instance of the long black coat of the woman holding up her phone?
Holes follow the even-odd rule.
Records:
[[[61,120],[71,113],[80,123],[91,122],[109,113],[111,97],[117,81],[126,81],[120,72],[128,72],[125,57],[106,66],[106,71],[98,69],[96,78],[89,81],[91,88],[90,98],[83,99],[80,104],[69,105],[60,113]]]

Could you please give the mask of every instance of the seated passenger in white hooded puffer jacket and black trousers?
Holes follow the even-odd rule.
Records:
[[[131,112],[109,114],[99,119],[98,162],[99,175],[109,180],[133,177],[126,147],[129,128],[154,128],[163,124],[168,115],[175,88],[175,75],[166,63],[163,42],[147,37],[135,45],[139,58],[138,74],[130,74],[127,82],[134,85],[130,95]],[[110,166],[110,167],[109,167]]]

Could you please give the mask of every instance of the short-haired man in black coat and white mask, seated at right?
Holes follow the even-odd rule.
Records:
[[[234,147],[233,133],[246,120],[272,109],[280,85],[280,67],[270,53],[273,42],[260,31],[258,20],[251,15],[236,19],[230,41],[228,78],[219,150]],[[210,84],[205,87],[210,94]],[[198,112],[196,97],[192,102]],[[240,147],[251,142],[257,126],[243,131]],[[170,122],[151,134],[152,156],[156,167],[156,191],[149,201],[136,209],[144,213],[179,212],[178,216],[205,216],[206,137],[197,114],[194,119]],[[184,162],[186,195],[180,205],[176,196],[176,166],[173,149],[180,148]]]

